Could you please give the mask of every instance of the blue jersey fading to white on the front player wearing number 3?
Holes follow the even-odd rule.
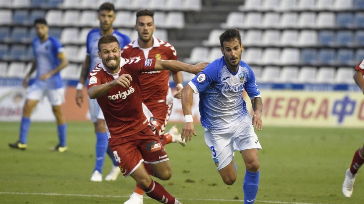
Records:
[[[236,73],[225,64],[224,57],[211,62],[188,83],[195,93],[200,93],[201,124],[205,128],[219,129],[246,119],[248,111],[242,97],[260,97],[253,70],[240,61]],[[250,121],[251,122],[251,121]]]

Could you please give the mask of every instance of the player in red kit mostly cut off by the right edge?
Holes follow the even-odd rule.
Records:
[[[356,73],[354,74],[354,81],[359,86],[364,94],[364,60],[362,60],[356,67]],[[355,176],[364,163],[364,144],[363,147],[356,150],[350,168],[345,172],[345,179],[343,183],[343,193],[345,197],[351,197],[354,188]]]

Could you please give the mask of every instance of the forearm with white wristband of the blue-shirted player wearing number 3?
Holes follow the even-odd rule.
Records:
[[[196,135],[195,127],[193,125],[192,118],[192,101],[193,101],[193,89],[187,85],[182,89],[182,110],[185,115],[185,126],[182,128],[181,138],[185,141],[191,141],[192,135]]]

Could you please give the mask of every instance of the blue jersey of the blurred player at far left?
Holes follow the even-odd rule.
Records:
[[[37,75],[34,83],[39,87],[47,87],[48,89],[62,88],[63,82],[59,72],[46,81],[39,80],[42,74],[49,73],[60,64],[58,54],[64,52],[62,44],[52,36],[49,36],[44,42],[41,42],[37,37],[32,41],[32,48],[37,61]]]

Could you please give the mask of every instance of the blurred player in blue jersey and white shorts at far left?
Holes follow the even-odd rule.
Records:
[[[44,95],[47,95],[53,113],[57,120],[59,143],[52,148],[54,151],[64,152],[66,147],[66,121],[62,115],[64,102],[64,88],[59,71],[68,65],[66,54],[59,40],[48,35],[49,27],[45,19],[36,19],[34,22],[37,36],[32,41],[35,56],[29,73],[25,76],[23,86],[28,86],[31,74],[37,69],[35,82],[28,90],[27,100],[23,108],[23,117],[20,123],[19,140],[9,144],[11,148],[25,150],[27,148],[30,114]]]

